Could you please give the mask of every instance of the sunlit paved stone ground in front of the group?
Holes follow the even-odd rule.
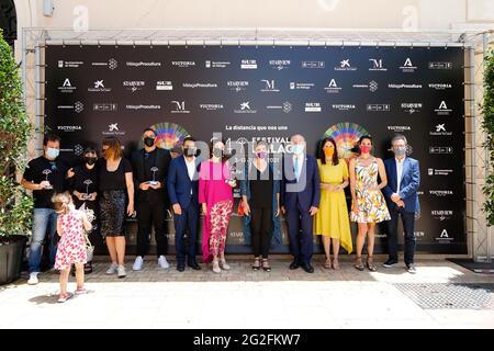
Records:
[[[402,264],[359,272],[350,258],[341,258],[339,271],[325,270],[323,258],[316,257],[315,273],[307,274],[290,271],[287,257],[274,259],[270,273],[254,272],[250,259],[235,257],[229,272],[215,274],[204,264],[202,271],[179,273],[173,261],[169,270],[159,270],[155,258],[145,261],[143,271],[133,272],[128,258],[125,279],[105,275],[105,260],[98,258],[94,272],[87,275],[92,292],[65,304],[57,304],[56,273],[43,273],[36,286],[29,286],[25,276],[0,286],[0,328],[494,327],[494,275],[446,260],[420,259],[412,275]],[[383,262],[384,257],[378,260]],[[417,299],[419,288],[427,286],[433,293],[425,299],[438,302],[433,308],[420,307]],[[454,305],[445,299],[451,296],[435,288],[453,288],[454,294],[454,286],[481,292],[491,303],[469,307],[463,290],[465,296],[456,297],[467,306]],[[483,286],[491,290],[479,291]],[[406,294],[403,287],[408,288]],[[74,288],[70,278],[69,291]]]

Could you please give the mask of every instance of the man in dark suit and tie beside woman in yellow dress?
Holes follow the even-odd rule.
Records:
[[[290,269],[302,267],[305,272],[313,273],[313,217],[319,206],[319,171],[316,159],[305,152],[305,138],[302,135],[291,137],[291,147],[293,154],[284,156],[281,186],[281,210],[285,214],[290,251],[293,254]]]

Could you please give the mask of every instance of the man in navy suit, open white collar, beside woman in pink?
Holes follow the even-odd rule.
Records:
[[[183,156],[171,160],[167,188],[175,214],[175,246],[177,251],[177,271],[193,270],[201,267],[195,262],[195,246],[199,226],[199,159],[195,158],[195,139],[188,136],[183,140]],[[188,230],[188,248],[183,235]]]

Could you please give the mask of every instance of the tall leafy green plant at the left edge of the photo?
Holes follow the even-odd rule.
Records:
[[[33,201],[16,182],[26,165],[32,125],[22,100],[19,66],[0,30],[0,239],[29,235]]]

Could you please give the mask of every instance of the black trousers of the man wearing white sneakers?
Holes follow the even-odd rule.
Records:
[[[148,253],[151,227],[155,229],[157,256],[167,253],[166,211],[162,199],[137,203],[137,256],[144,258]]]

